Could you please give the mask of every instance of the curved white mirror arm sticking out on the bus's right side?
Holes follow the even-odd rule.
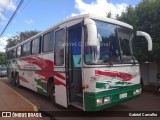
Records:
[[[137,31],[136,35],[145,37],[148,42],[148,51],[152,51],[152,38],[150,37],[150,35],[142,31]]]

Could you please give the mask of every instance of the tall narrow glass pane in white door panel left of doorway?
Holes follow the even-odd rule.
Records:
[[[64,64],[64,48],[65,48],[65,30],[61,29],[55,32],[55,65]]]

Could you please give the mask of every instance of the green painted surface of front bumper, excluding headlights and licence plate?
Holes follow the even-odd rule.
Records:
[[[124,87],[122,89],[109,90],[109,91],[98,92],[98,93],[85,92],[84,93],[85,111],[99,111],[99,110],[114,106],[116,104],[123,103],[130,99],[133,99],[138,96],[138,95],[133,95],[133,91],[139,88],[141,88],[140,84]],[[127,93],[127,97],[120,99],[119,95],[122,93]],[[97,105],[96,100],[98,98],[105,98],[107,96],[111,97],[110,103]]]

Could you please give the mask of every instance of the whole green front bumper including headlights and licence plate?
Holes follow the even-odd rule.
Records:
[[[99,111],[133,99],[140,93],[140,84],[98,93],[85,92],[85,111]]]

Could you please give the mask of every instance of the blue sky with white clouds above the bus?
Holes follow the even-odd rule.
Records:
[[[14,19],[0,37],[0,52],[5,51],[7,39],[19,32],[43,31],[66,18],[92,13],[106,16],[121,15],[127,6],[137,5],[141,0],[24,0]],[[14,13],[20,0],[0,0],[0,33]]]

